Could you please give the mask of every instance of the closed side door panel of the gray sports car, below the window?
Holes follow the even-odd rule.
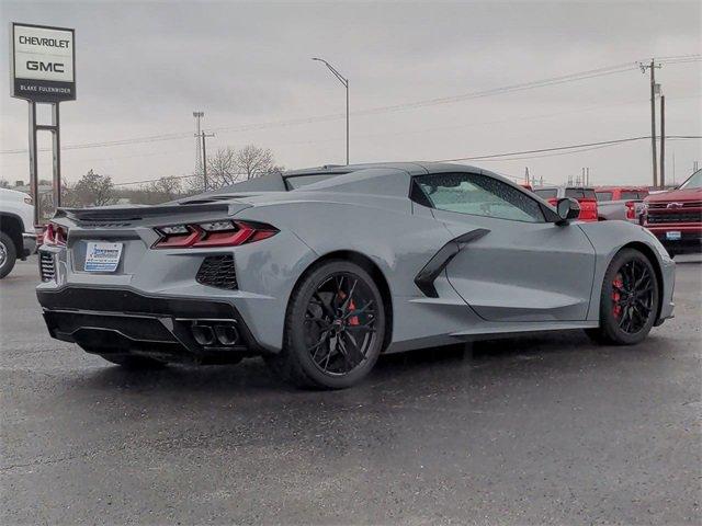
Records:
[[[456,235],[474,228],[490,231],[461,251],[448,268],[451,284],[482,318],[587,319],[595,249],[580,229],[442,210],[434,215]]]

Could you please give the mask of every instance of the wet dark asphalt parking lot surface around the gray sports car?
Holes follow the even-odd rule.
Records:
[[[296,391],[260,359],[131,373],[0,282],[2,524],[702,522],[702,259],[636,347],[581,332],[380,361]]]

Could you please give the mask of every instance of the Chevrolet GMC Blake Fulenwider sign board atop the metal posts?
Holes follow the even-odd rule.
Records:
[[[76,100],[75,32],[12,23],[12,96],[33,102]]]

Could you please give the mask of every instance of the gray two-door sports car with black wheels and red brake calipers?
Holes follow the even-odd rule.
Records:
[[[127,367],[262,355],[297,386],[381,353],[586,329],[641,342],[675,264],[644,228],[578,222],[478,168],[271,174],[160,206],[59,209],[39,251],[52,336]]]

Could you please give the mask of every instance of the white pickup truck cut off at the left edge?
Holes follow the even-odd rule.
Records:
[[[23,192],[0,188],[0,279],[14,262],[36,251],[32,197]]]

